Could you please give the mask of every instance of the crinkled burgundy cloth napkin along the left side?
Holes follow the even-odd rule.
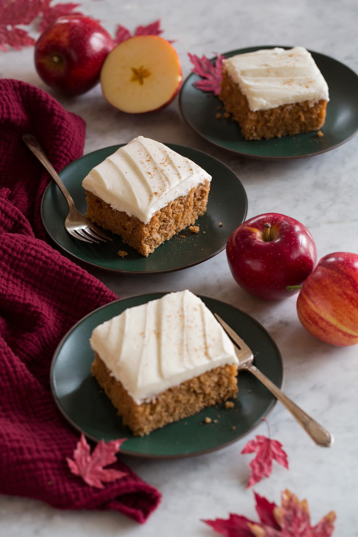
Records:
[[[65,461],[79,433],[50,393],[52,355],[72,325],[116,296],[43,240],[49,176],[24,133],[34,134],[58,171],[82,155],[85,124],[48,93],[0,81],[0,493],[60,509],[114,509],[144,522],[160,494],[121,461],[115,468],[128,476],[104,489],[72,475]]]

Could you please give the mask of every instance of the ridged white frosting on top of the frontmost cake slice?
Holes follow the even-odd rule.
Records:
[[[190,291],[126,309],[97,326],[90,345],[137,404],[215,367],[238,364],[231,340]]]

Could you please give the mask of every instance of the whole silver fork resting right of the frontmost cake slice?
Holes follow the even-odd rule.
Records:
[[[228,335],[231,337],[233,341],[239,346],[239,348],[234,345],[235,352],[237,355],[237,358],[239,360],[239,370],[245,370],[250,371],[259,381],[266,386],[268,390],[271,391],[271,393],[278,399],[284,407],[287,408],[293,415],[293,417],[297,420],[299,425],[303,427],[303,429],[306,431],[306,433],[309,434],[309,436],[318,444],[318,446],[322,447],[330,447],[332,446],[334,442],[333,434],[330,434],[326,429],[322,427],[322,425],[319,425],[313,418],[311,418],[308,414],[306,414],[301,408],[299,408],[296,403],[290,400],[287,395],[284,395],[284,393],[280,390],[280,388],[277,388],[276,384],[274,384],[271,380],[267,378],[264,373],[261,373],[260,369],[255,367],[253,365],[253,353],[246,345],[243,339],[241,339],[235,331],[230,328],[230,326],[225,323],[225,321],[222,320],[221,317],[219,317],[216,313],[214,314],[217,318],[218,322],[222,325],[225,332],[228,333]]]

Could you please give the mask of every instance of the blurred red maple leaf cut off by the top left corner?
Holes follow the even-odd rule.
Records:
[[[35,40],[18,24],[30,24],[40,14],[43,0],[3,0],[0,2],[0,49],[20,50],[34,45]]]

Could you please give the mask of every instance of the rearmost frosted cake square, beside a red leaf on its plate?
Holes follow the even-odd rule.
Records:
[[[223,62],[219,95],[246,140],[320,129],[327,83],[303,47],[237,54]]]

